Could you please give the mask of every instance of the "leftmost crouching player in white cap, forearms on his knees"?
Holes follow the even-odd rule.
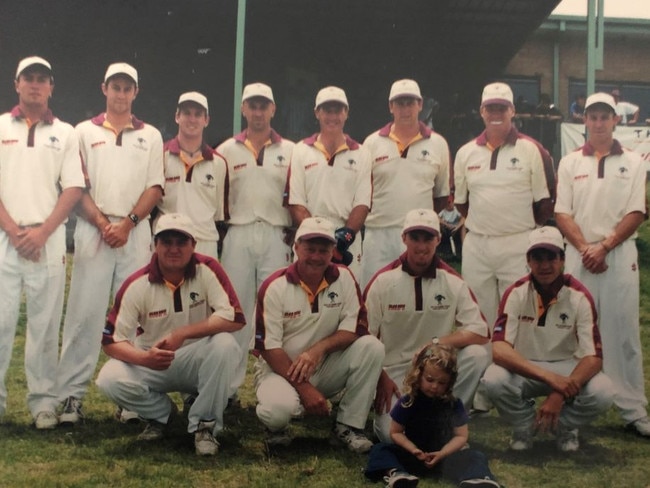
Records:
[[[198,455],[213,456],[240,355],[230,332],[244,317],[219,263],[194,253],[188,217],[163,215],[155,229],[150,263],[120,287],[106,320],[102,344],[112,359],[97,386],[146,419],[143,441],[165,434],[175,407],[167,392],[196,394],[187,431]]]

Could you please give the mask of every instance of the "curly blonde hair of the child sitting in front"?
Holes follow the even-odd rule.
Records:
[[[408,399],[402,402],[405,407],[410,407],[413,404],[413,400],[420,391],[420,378],[427,364],[440,368],[449,375],[449,388],[441,398],[445,400],[454,399],[451,390],[458,377],[456,348],[442,344],[430,344],[420,351],[404,378],[404,396],[402,398],[408,396]]]

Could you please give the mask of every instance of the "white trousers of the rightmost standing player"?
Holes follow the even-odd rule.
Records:
[[[636,243],[628,239],[606,258],[607,271],[593,274],[582,265],[582,256],[566,248],[565,271],[591,292],[598,310],[603,343],[603,372],[614,383],[614,404],[625,422],[647,415],[648,400],[643,380],[643,353],[639,331],[639,265]]]

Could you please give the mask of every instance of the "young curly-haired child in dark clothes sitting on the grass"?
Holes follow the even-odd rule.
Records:
[[[494,488],[487,459],[469,449],[467,413],[451,390],[458,375],[451,346],[428,345],[404,379],[404,395],[390,412],[394,444],[375,444],[365,475],[389,488],[417,486],[418,476],[442,475],[464,488]]]

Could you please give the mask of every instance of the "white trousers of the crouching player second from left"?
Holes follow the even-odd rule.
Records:
[[[329,354],[310,383],[326,398],[343,391],[336,421],[363,429],[384,361],[384,345],[371,335],[359,337],[342,351]],[[298,392],[260,360],[255,366],[257,417],[271,432],[286,428],[303,413]]]

